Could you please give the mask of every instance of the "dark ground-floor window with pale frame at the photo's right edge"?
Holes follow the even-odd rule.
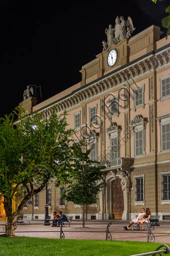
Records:
[[[170,203],[170,172],[161,173],[162,203]]]

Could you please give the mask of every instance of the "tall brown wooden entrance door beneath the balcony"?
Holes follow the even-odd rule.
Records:
[[[113,218],[122,219],[124,211],[124,198],[121,187],[121,179],[117,178],[112,181],[112,198],[113,198]]]

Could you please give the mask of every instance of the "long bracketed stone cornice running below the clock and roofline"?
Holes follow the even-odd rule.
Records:
[[[48,114],[52,111],[55,106],[57,112],[63,112],[68,110],[84,100],[88,100],[102,92],[109,90],[110,88],[117,87],[131,78],[137,78],[140,75],[147,73],[148,71],[155,70],[164,65],[170,63],[170,45],[168,48],[161,48],[160,51],[151,52],[150,55],[138,58],[136,61],[132,61],[122,68],[118,68],[107,75],[98,78],[97,80],[90,82],[90,84],[85,85],[73,93],[70,93],[66,97],[47,105],[39,111],[47,111]]]

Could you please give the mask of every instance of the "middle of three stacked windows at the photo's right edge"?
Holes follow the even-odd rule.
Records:
[[[170,123],[162,125],[162,150],[170,149]]]

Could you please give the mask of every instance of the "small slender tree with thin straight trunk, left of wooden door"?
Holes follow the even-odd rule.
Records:
[[[100,166],[97,161],[90,160],[90,150],[84,149],[84,141],[74,143],[72,150],[74,152],[72,179],[61,193],[65,200],[82,205],[84,227],[85,206],[93,203],[94,196],[96,197],[103,187],[101,169],[104,169],[104,166]]]

